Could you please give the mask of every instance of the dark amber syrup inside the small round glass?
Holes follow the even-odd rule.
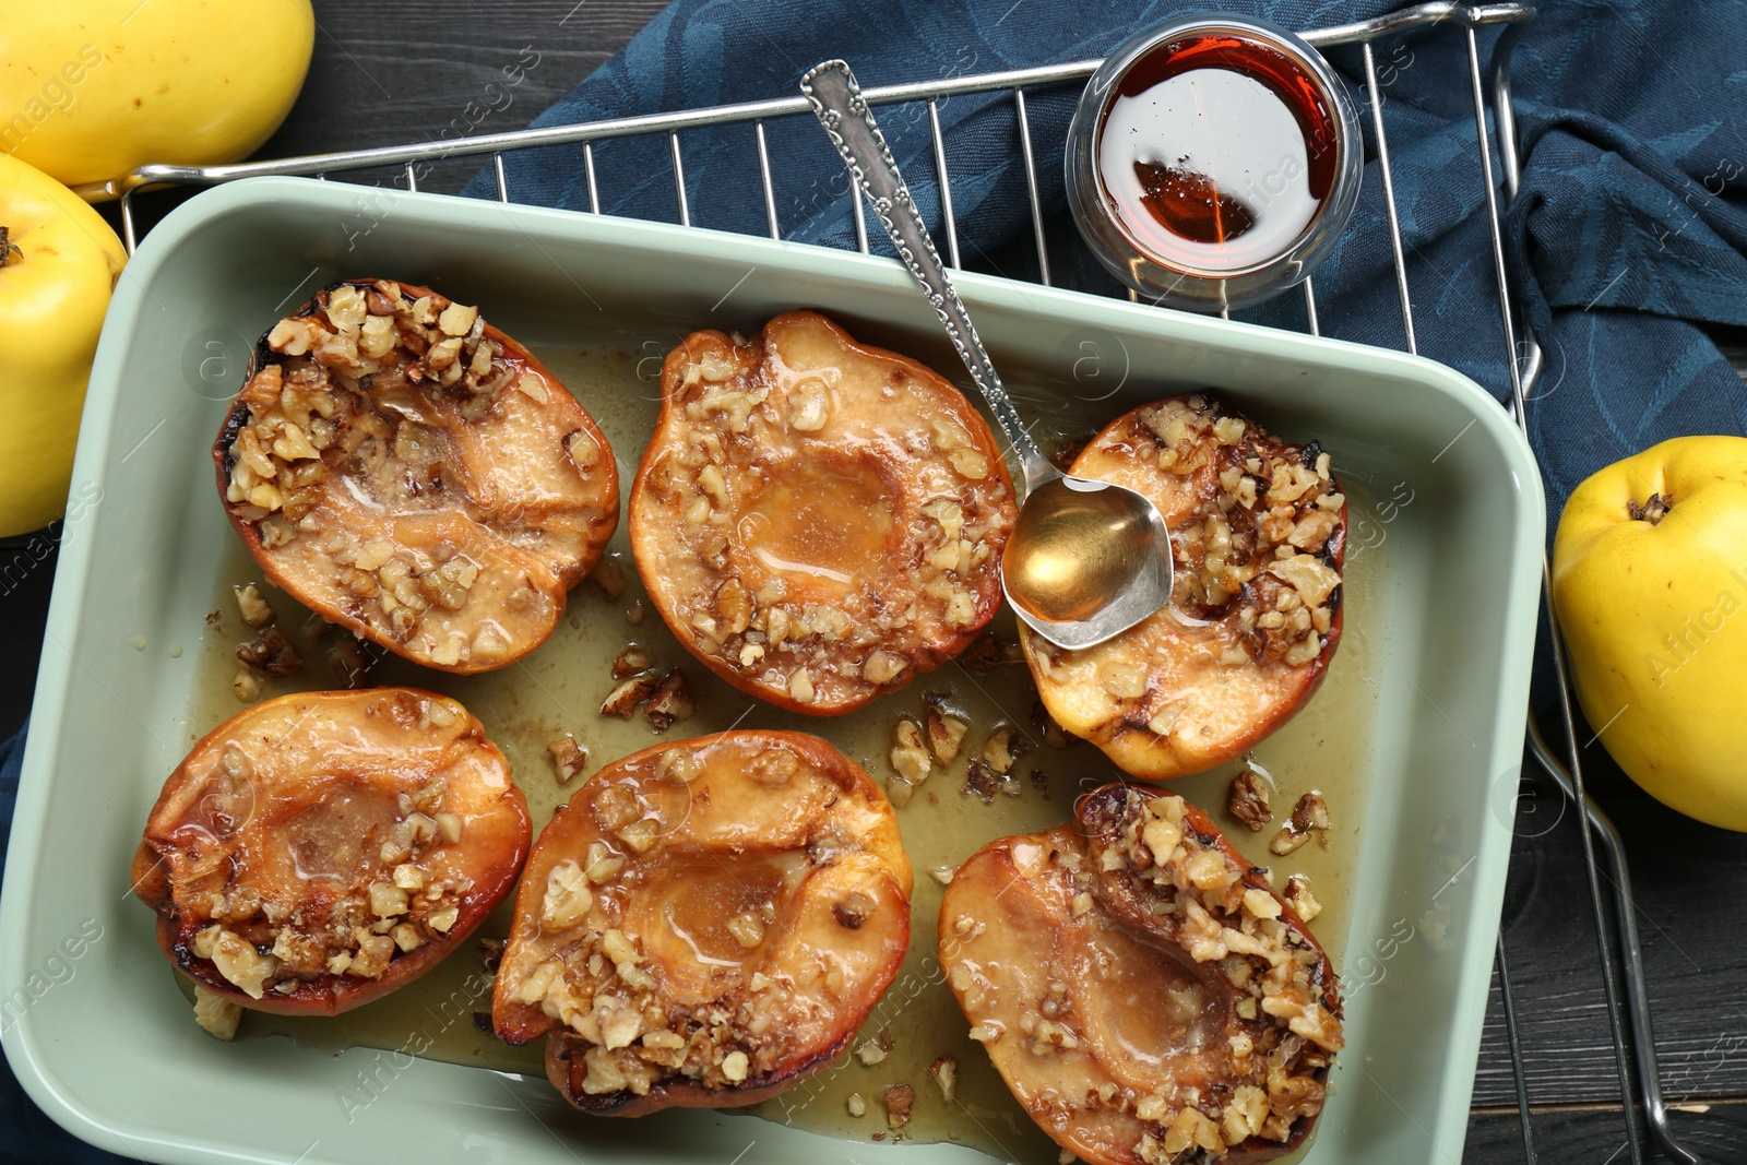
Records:
[[[1242,271],[1288,250],[1335,183],[1335,115],[1289,56],[1232,33],[1170,40],[1111,89],[1104,203],[1167,267]]]

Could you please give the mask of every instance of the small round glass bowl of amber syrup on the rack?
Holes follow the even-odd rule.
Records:
[[[1328,61],[1249,16],[1200,12],[1104,59],[1067,131],[1067,201],[1118,279],[1195,311],[1254,304],[1333,250],[1364,173]]]

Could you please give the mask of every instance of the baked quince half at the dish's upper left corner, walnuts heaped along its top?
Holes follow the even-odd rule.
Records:
[[[213,461],[274,583],[438,671],[540,646],[618,524],[611,449],[557,377],[477,307],[388,279],[267,332]]]

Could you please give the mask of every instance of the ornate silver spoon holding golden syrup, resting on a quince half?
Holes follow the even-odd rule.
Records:
[[[816,65],[800,79],[800,91],[1019,454],[1025,501],[1001,554],[1001,589],[1013,611],[1050,643],[1088,648],[1164,608],[1170,601],[1170,534],[1164,515],[1125,486],[1062,473],[1031,440],[952,290],[849,65]]]

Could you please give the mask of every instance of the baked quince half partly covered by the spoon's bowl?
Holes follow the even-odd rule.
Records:
[[[1303,707],[1340,643],[1347,498],[1329,456],[1193,395],[1116,417],[1073,472],[1153,500],[1176,585],[1080,651],[1020,624],[1045,709],[1148,781],[1240,756]]]

